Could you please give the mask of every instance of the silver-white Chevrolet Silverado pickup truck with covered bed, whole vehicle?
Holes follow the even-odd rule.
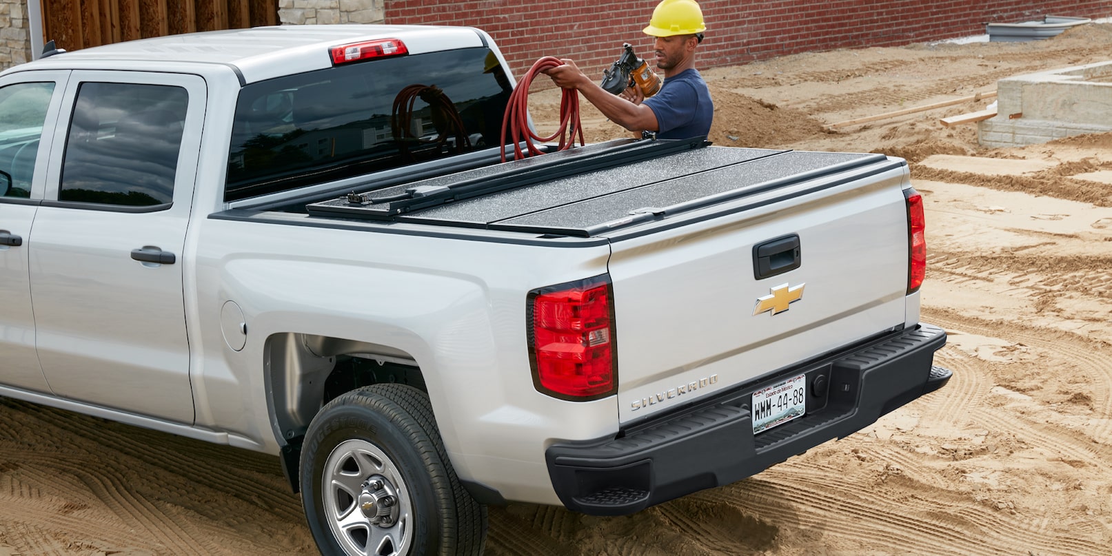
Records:
[[[324,554],[461,555],[486,504],[629,514],[950,378],[905,161],[502,162],[504,67],[321,26],[0,73],[0,395],[278,455]]]

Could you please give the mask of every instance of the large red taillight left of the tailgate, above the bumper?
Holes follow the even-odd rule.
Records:
[[[603,278],[529,294],[529,363],[537,390],[576,401],[617,391],[612,301]]]

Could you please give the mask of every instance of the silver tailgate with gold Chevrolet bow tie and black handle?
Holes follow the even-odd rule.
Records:
[[[665,216],[651,234],[609,235],[623,423],[904,324],[906,169],[838,157],[785,152],[676,180],[692,189],[732,180],[729,195],[752,192],[682,201],[703,208]]]

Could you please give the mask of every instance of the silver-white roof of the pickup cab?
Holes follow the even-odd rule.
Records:
[[[218,63],[231,66],[246,83],[331,67],[329,48],[365,40],[395,38],[410,53],[458,48],[494,48],[486,32],[469,27],[438,26],[274,26],[155,37],[73,50],[24,64],[19,69],[129,69],[128,61],[160,64]]]

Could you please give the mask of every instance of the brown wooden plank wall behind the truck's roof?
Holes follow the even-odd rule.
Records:
[[[276,24],[277,0],[42,0],[43,40],[66,50]]]

